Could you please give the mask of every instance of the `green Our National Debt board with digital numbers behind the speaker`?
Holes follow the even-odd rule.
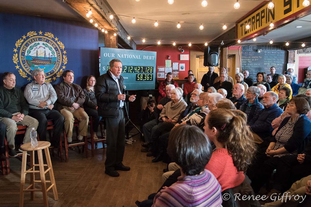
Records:
[[[100,75],[107,73],[112,59],[122,62],[121,76],[126,90],[155,89],[156,52],[103,47],[100,50]]]

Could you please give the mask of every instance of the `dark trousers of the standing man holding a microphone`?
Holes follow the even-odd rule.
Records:
[[[125,117],[124,111],[119,110],[118,118],[104,117],[107,134],[106,170],[114,170],[121,166],[125,148]]]

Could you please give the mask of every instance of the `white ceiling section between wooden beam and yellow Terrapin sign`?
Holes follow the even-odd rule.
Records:
[[[178,43],[204,43],[211,41],[228,29],[235,26],[235,22],[260,4],[261,0],[240,1],[240,8],[234,9],[235,0],[208,0],[207,7],[202,7],[202,0],[175,0],[169,5],[167,0],[107,0],[116,14],[127,15],[136,18],[136,23],[132,24],[131,17],[118,16],[120,23],[127,30],[128,34],[134,36],[132,39],[136,44],[143,44],[141,38],[151,39],[144,44],[156,44],[161,40],[162,44]],[[188,15],[183,15],[189,13]],[[173,21],[176,23],[159,22],[158,27],[154,27],[154,21],[140,20],[137,18]],[[177,29],[177,22],[193,22],[198,24],[181,24]],[[206,24],[200,30],[199,23]],[[223,30],[221,24],[226,23],[227,30]],[[231,23],[231,24],[229,24]],[[137,38],[141,37],[141,38]]]

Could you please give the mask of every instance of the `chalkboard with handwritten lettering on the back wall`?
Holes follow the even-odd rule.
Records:
[[[285,57],[285,49],[281,45],[245,45],[242,46],[242,71],[248,70],[255,82],[258,72],[270,74],[272,66],[277,74],[283,74]]]

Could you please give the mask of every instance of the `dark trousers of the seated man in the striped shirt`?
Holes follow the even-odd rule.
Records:
[[[52,144],[59,142],[60,134],[64,128],[64,117],[58,111],[52,109],[29,109],[29,116],[39,121],[37,132],[41,141],[46,141],[46,128],[48,120],[53,121],[54,130],[50,140]]]

